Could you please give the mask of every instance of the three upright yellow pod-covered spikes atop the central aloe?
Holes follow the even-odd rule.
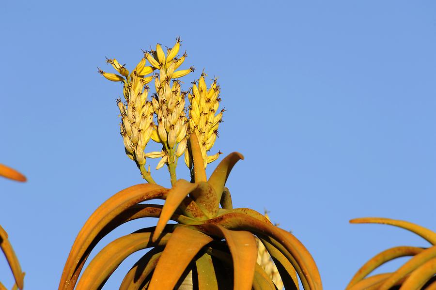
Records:
[[[140,168],[142,176],[148,182],[154,183],[150,175],[150,169],[145,169],[146,158],[161,158],[156,169],[168,166],[171,183],[175,182],[175,167],[177,160],[185,153],[185,162],[188,168],[192,168],[192,156],[190,156],[187,139],[189,135],[196,134],[202,149],[204,167],[218,158],[220,152],[207,155],[218,137],[218,124],[222,121],[222,112],[218,112],[219,86],[214,79],[210,88],[207,89],[204,81],[204,73],[197,81],[193,82],[188,92],[181,89],[181,81],[178,78],[186,76],[194,71],[193,67],[177,70],[185,61],[186,52],[177,58],[180,49],[180,39],[172,48],[167,48],[165,53],[160,44],[156,50],[144,51],[144,58],[138,63],[132,73],[129,74],[124,65],[115,59],[108,59],[118,74],[99,72],[111,81],[123,82],[123,94],[125,103],[117,100],[121,112],[121,135],[124,139],[125,152],[134,160]],[[146,62],[150,66],[146,66]],[[150,75],[156,71],[153,76]],[[157,73],[158,72],[158,73]],[[156,92],[151,101],[147,100],[148,83],[154,79]],[[186,95],[190,105],[189,119],[185,104]],[[156,121],[154,117],[156,116]],[[144,153],[145,147],[150,140],[162,144],[162,150]]]

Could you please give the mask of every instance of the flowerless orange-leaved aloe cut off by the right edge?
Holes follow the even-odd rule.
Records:
[[[348,283],[346,290],[434,290],[436,289],[436,232],[402,220],[366,217],[352,219],[350,223],[386,224],[407,229],[426,241],[427,248],[415,246],[397,246],[389,248],[368,260]],[[391,273],[369,276],[382,264],[399,258],[409,257],[400,268]]]

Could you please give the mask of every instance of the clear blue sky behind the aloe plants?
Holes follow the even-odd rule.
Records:
[[[121,87],[97,66],[111,71],[108,57],[132,68],[141,48],[172,46],[177,36],[185,67],[197,68],[185,89],[202,68],[219,77],[227,111],[214,148],[246,157],[228,180],[234,206],[266,208],[292,230],[325,289],[343,289],[388,247],[428,246],[405,230],[348,220],[436,229],[434,1],[3,0],[0,162],[29,181],[0,180],[0,224],[25,288],[57,288],[89,215],[143,182],[119,135]],[[153,174],[169,186],[165,168]],[[99,248],[155,221],[125,225]],[[105,289],[116,289],[138,255]],[[0,273],[11,286],[4,257]]]

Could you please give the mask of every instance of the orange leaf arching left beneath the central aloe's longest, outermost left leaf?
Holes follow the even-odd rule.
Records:
[[[77,290],[97,290],[132,253],[168,243],[171,233],[165,233],[157,243],[151,241],[151,232],[132,233],[105,246],[90,262],[77,284]]]

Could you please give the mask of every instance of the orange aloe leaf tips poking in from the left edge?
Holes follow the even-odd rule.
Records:
[[[0,164],[0,176],[12,179],[19,182],[25,182],[26,177],[20,172],[16,171],[13,168],[7,167],[5,165]],[[13,289],[19,288],[23,289],[24,287],[24,273],[21,271],[20,263],[16,257],[14,249],[12,248],[11,243],[8,240],[8,234],[6,231],[0,226],[0,248],[3,251],[4,256],[6,257],[6,261],[11,268],[12,274],[14,275],[15,285]],[[5,290],[6,287],[0,282],[0,290]]]

